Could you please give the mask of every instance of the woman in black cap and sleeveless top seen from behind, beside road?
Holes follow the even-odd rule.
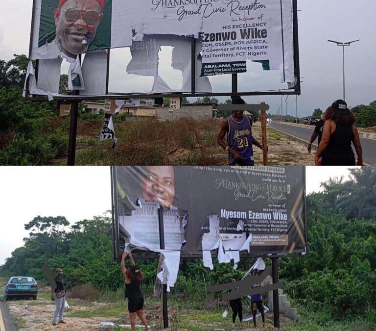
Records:
[[[363,151],[359,133],[355,123],[355,116],[347,103],[336,100],[325,111],[323,137],[315,154],[315,164],[321,165],[320,158],[325,153],[325,165],[355,165],[355,157],[351,143],[357,154],[356,165],[363,165]]]

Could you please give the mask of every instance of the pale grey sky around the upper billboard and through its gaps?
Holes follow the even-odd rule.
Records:
[[[248,103],[265,101],[268,112],[309,116],[315,108],[325,110],[334,100],[342,99],[342,47],[327,40],[359,42],[345,48],[346,101],[350,107],[369,104],[376,99],[376,1],[375,0],[298,0],[299,53],[302,95],[245,97]],[[13,54],[28,54],[32,0],[0,1],[0,59],[8,61]],[[16,15],[17,14],[17,15]],[[181,72],[170,67],[171,50],[161,54],[160,70],[170,84],[178,84]],[[150,77],[124,78],[129,49],[111,51],[110,91],[131,92],[151,84]],[[168,59],[169,57],[169,59]],[[162,60],[165,59],[165,60]],[[65,66],[65,70],[68,67]],[[284,88],[278,72],[265,72],[251,64],[251,72],[239,74],[239,91]],[[304,77],[304,78],[303,78]],[[231,90],[231,75],[211,78],[213,91]],[[145,85],[146,84],[146,85]],[[266,88],[265,88],[266,87]],[[268,88],[267,88],[268,87]],[[224,102],[226,97],[218,98]]]

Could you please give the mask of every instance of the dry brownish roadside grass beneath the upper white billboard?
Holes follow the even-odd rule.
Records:
[[[99,140],[103,125],[98,118],[79,118],[77,128],[77,165],[227,165],[226,151],[216,143],[221,121],[184,118],[174,121],[155,119],[127,119],[115,117],[118,144],[113,140]],[[252,127],[254,138],[261,143],[261,125]],[[279,146],[292,144],[293,139],[267,127],[267,142],[273,156],[271,165],[290,165],[293,159],[280,155]],[[262,153],[254,146],[256,164],[262,164]],[[295,157],[299,157],[295,151]],[[284,162],[284,163],[283,163]],[[65,164],[56,159],[54,164]]]

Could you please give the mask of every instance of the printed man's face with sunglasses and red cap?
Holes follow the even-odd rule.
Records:
[[[102,20],[97,0],[67,0],[55,10],[56,40],[70,57],[86,52]]]

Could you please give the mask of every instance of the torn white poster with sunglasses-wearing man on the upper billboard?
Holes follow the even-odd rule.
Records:
[[[202,76],[241,73],[246,60],[269,61],[294,82],[291,0],[34,0],[32,59],[119,47],[147,35],[194,36],[202,42]],[[148,49],[148,48],[147,48]],[[132,49],[132,55],[133,55]],[[145,52],[141,75],[154,76],[158,57]],[[140,55],[141,56],[141,55]],[[146,59],[146,60],[145,60]],[[128,70],[137,67],[131,63]],[[139,73],[138,73],[139,74]]]

